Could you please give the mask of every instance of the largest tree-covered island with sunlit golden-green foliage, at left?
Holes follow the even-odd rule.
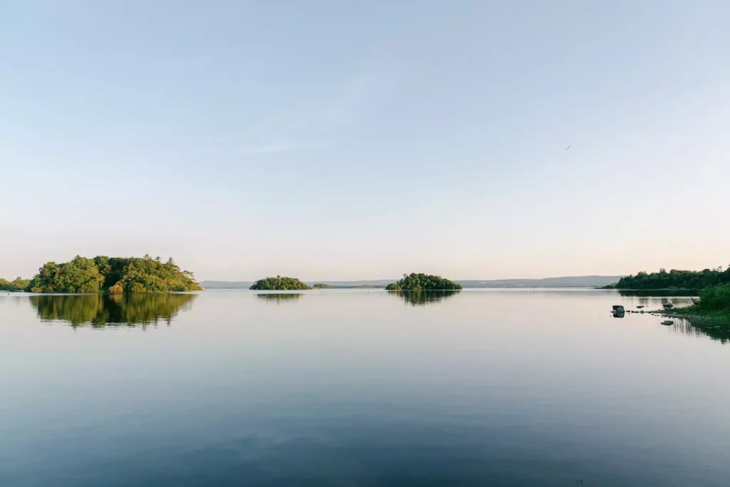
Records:
[[[22,283],[13,281],[16,282]],[[159,257],[150,256],[76,256],[61,264],[47,262],[23,288],[8,289],[21,290],[33,293],[163,293],[201,291],[202,288],[192,272],[180,269],[172,257],[163,262]]]

